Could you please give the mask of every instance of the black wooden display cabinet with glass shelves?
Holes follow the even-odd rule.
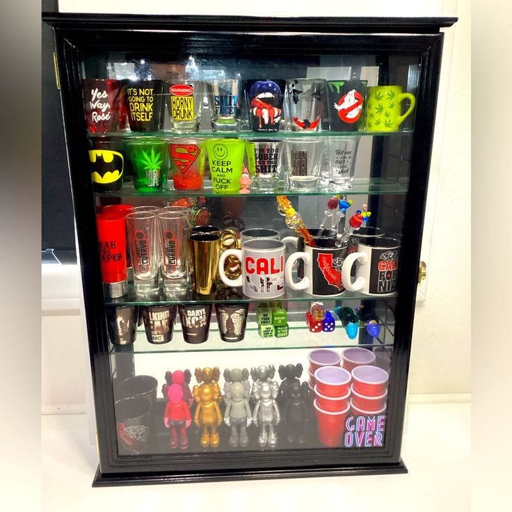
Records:
[[[99,469],[93,485],[406,472],[400,456],[401,436],[441,65],[443,34],[440,29],[451,26],[456,19],[43,13],[43,20],[54,29],[93,371],[99,447]],[[204,100],[200,98],[204,104],[200,105],[199,131],[183,135],[175,133],[170,125],[170,114],[166,110],[170,95],[164,88],[161,106],[164,122],[159,129],[153,129],[149,134],[137,134],[134,125],[132,129],[123,125],[121,129],[118,127],[106,134],[111,141],[117,141],[118,147],[122,148],[119,152],[126,150],[130,140],[147,136],[160,138],[166,145],[184,136],[201,139],[205,144],[215,138],[253,137],[256,141],[272,138],[282,144],[280,151],[283,160],[278,188],[270,192],[260,191],[253,182],[250,193],[246,195],[238,191],[222,195],[215,193],[209,181],[212,171],[211,168],[208,171],[210,161],[207,158],[202,189],[186,192],[177,190],[169,174],[163,188],[146,193],[134,189],[134,178],[129,177],[129,171],[136,173],[136,170],[130,169],[132,162],[127,150],[122,153],[125,155],[125,178],[121,189],[105,192],[93,187],[88,150],[105,134],[88,132],[82,96],[83,79],[119,79],[124,80],[126,86],[134,78],[156,78],[169,82],[177,77],[195,77],[207,82],[218,77],[231,77],[236,73],[241,74],[242,80],[272,80],[276,83],[296,78],[339,83],[354,81],[352,85],[357,83],[358,87],[364,83],[361,95],[365,104],[358,129],[351,131],[351,125],[346,129],[342,127],[342,131],[333,131],[333,128],[340,129],[339,121],[333,116],[339,113],[339,118],[342,118],[345,108],[343,101],[339,99],[339,102],[333,102],[330,96],[321,96],[319,93],[321,106],[317,112],[316,130],[294,131],[295,120],[298,118],[299,122],[303,122],[303,119],[299,114],[294,118],[294,112],[291,112],[295,108],[292,105],[295,97],[290,95],[296,95],[292,91],[288,96],[285,94],[278,132],[251,132],[248,116],[255,114],[256,107],[250,104],[246,95],[240,100],[240,131],[221,134],[213,132],[211,119],[208,118],[207,96],[204,95]],[[246,84],[245,81],[243,83]],[[326,82],[322,83],[326,86]],[[372,86],[401,86],[404,93],[415,97],[413,113],[401,122],[398,129],[387,131],[393,130],[392,124],[400,114],[400,111],[398,114],[393,113],[392,109],[401,91],[370,89]],[[242,89],[242,92],[244,90],[248,88]],[[268,96],[263,94],[258,98],[263,101]],[[407,104],[404,102],[402,113]],[[268,109],[268,106],[262,108]],[[345,114],[347,112],[350,109]],[[259,115],[261,120],[261,116],[265,118],[269,112],[262,114],[259,111]],[[264,120],[265,123],[267,121]],[[376,128],[376,125],[382,126],[382,129]],[[332,167],[330,152],[335,148],[336,137],[342,137],[346,144],[357,148],[354,153],[357,157],[354,156],[353,185],[346,191],[334,189],[328,171],[325,173],[326,169]],[[291,190],[287,185],[291,171],[287,168],[285,148],[291,144],[290,141],[305,144],[307,140],[321,141],[323,145],[323,150],[316,157],[321,164],[319,184],[312,190]],[[354,141],[357,141],[355,146]],[[165,179],[169,160],[163,160],[166,161],[163,171]],[[293,175],[291,173],[292,178]],[[318,227],[322,223],[328,201],[333,196],[338,195],[338,200],[341,198],[347,202],[352,200],[353,205],[346,210],[344,217],[341,216],[340,232],[344,226],[348,226],[347,221],[355,214],[355,210],[367,205],[367,210],[371,211],[367,225],[379,228],[387,239],[392,238],[397,243],[399,259],[378,267],[379,271],[383,271],[383,279],[386,276],[397,278],[396,289],[392,287],[391,294],[382,294],[386,288],[381,287],[380,292],[374,295],[362,289],[345,290],[337,296],[318,297],[307,294],[307,290],[293,290],[287,284],[282,296],[270,299],[273,302],[280,301],[280,307],[287,312],[289,334],[285,337],[276,337],[278,331],[273,327],[273,337],[262,337],[264,330],[258,321],[263,320],[258,312],[263,311],[262,302],[269,301],[264,297],[248,297],[241,289],[218,286],[211,294],[200,295],[191,291],[190,283],[187,285],[189,281],[184,278],[183,290],[175,294],[166,294],[163,289],[159,289],[156,296],[141,295],[130,282],[124,295],[109,298],[104,294],[95,222],[95,214],[100,207],[125,204],[161,208],[178,201],[178,204],[191,206],[193,214],[198,210],[206,212],[203,215],[207,215],[208,223],[222,229],[231,228],[240,232],[244,228],[271,228],[283,239],[296,236],[285,224],[284,217],[278,214],[276,198],[283,194],[287,195],[291,205],[303,216],[308,227]],[[180,203],[180,198],[187,198],[188,202]],[[195,221],[191,218],[189,222],[193,225],[204,224],[204,221],[204,218],[198,217]],[[187,243],[186,239],[183,243]],[[279,242],[276,244],[280,246]],[[383,241],[380,241],[374,243],[373,247],[379,248],[382,244]],[[384,246],[391,248],[389,242]],[[368,243],[368,247],[371,249],[372,244]],[[293,244],[287,244],[286,250],[286,256],[289,257],[295,250]],[[383,259],[386,261],[384,256]],[[363,266],[362,262],[358,265]],[[397,273],[393,273],[396,269]],[[298,280],[295,267],[292,277],[295,282]],[[323,303],[331,313],[339,307],[350,307],[356,311],[363,307],[369,313],[369,318],[374,319],[378,325],[378,333],[370,334],[367,329],[368,319],[362,319],[358,324],[357,335],[349,335],[336,314],[333,332],[314,332],[307,325],[305,315],[314,310],[314,302],[317,301]],[[248,313],[245,337],[239,342],[230,343],[220,337],[221,317],[216,318],[216,309],[212,306],[233,303],[242,304],[242,310],[247,305]],[[148,305],[196,304],[212,307],[214,311],[209,338],[201,344],[184,342],[179,320],[175,324],[172,341],[166,344],[148,342],[143,324],[137,327],[136,341],[123,345],[115,343],[107,328],[107,317],[115,312],[116,307],[135,306],[140,312]],[[274,319],[277,319],[275,310],[273,314]],[[374,405],[377,403],[375,401],[365,402],[365,397],[371,393],[363,393],[361,383],[373,382],[373,385],[378,385],[381,381],[379,378],[365,376],[365,371],[372,370],[353,370],[351,365],[357,364],[351,362],[353,352],[344,353],[346,357],[340,365],[349,371],[351,394],[343,402],[349,405],[346,408],[345,405],[340,406],[344,409],[342,431],[339,431],[339,426],[333,426],[340,418],[337,405],[334,405],[335,412],[332,415],[325,412],[327,405],[323,406],[323,412],[319,407],[322,395],[319,383],[330,385],[330,377],[313,371],[308,381],[308,372],[315,369],[309,354],[317,349],[328,349],[340,356],[346,349],[363,349],[369,355],[369,365],[389,376],[389,380],[383,384],[385,396],[379,395],[382,400],[379,406]],[[313,359],[316,357],[314,355]],[[293,400],[291,392],[287,391],[287,385],[291,384],[285,382],[287,369],[280,368],[287,364],[301,365],[292,371],[295,372],[290,376],[292,381],[297,375],[300,383],[308,383],[307,388],[306,385],[299,388],[299,396],[296,398],[303,407],[298,427],[294,424],[294,415],[289,412]],[[209,410],[211,413],[211,409],[207,408],[211,402],[203,396],[202,388],[195,387],[200,385],[204,377],[201,369],[214,369],[214,380],[209,385],[214,390],[214,401],[221,415],[225,415],[227,405],[233,400],[226,396],[230,392],[230,376],[224,373],[225,370],[237,367],[248,369],[250,376],[246,375],[239,380],[246,386],[244,389],[248,391],[248,405],[253,415],[257,404],[262,409],[266,403],[259,401],[264,398],[262,390],[267,388],[264,381],[269,375],[264,374],[264,370],[264,375],[258,373],[259,367],[266,366],[268,370],[271,365],[276,371],[274,373],[270,369],[268,388],[275,387],[277,390],[279,387],[281,390],[275,399],[280,408],[280,422],[273,425],[274,430],[267,437],[264,435],[264,442],[259,429],[262,422],[276,423],[275,410],[269,413],[270,417],[257,416],[258,425],[253,422],[247,427],[246,435],[240,433],[238,438],[238,434],[234,435],[230,426],[224,422],[216,427],[216,432],[205,434],[192,421],[190,428],[186,429],[186,445],[182,443],[183,432],[180,431],[181,444],[177,447],[177,442],[171,439],[174,435],[173,424],[164,424],[163,421],[168,412],[165,385],[172,383],[169,380],[166,384],[166,371],[189,369],[191,372],[189,387],[194,396],[191,397],[188,410],[191,419],[196,419],[202,427],[209,421],[209,413],[204,411]],[[195,371],[196,368],[200,371]],[[332,371],[335,374],[333,382],[337,383],[339,365],[338,369]],[[185,372],[185,376],[187,374]],[[132,390],[130,394],[126,379],[141,375],[156,379],[156,392],[153,387],[152,397],[145,397],[150,404],[145,425],[141,426],[139,420],[139,424],[132,422],[130,427],[130,423],[125,422],[126,418],[120,417],[122,413],[119,403],[140,392]],[[170,379],[169,374],[167,377]],[[195,382],[198,380],[196,377],[198,383]],[[348,395],[344,393],[335,394],[335,400],[346,398]],[[324,397],[322,403],[332,402],[326,401]],[[364,409],[362,404],[369,405],[365,405],[367,408]],[[197,413],[199,406],[203,408],[202,413]],[[126,412],[123,414],[127,416]],[[131,413],[133,416],[134,413]],[[222,421],[218,415],[215,418],[216,423]],[[178,430],[183,426],[180,421],[177,422]],[[299,429],[298,435],[293,433],[296,427]],[[142,429],[142,433],[134,433],[137,429]],[[326,434],[326,429],[337,429],[337,441],[333,442],[329,437],[333,432]],[[133,440],[142,442],[135,448],[136,442]]]

